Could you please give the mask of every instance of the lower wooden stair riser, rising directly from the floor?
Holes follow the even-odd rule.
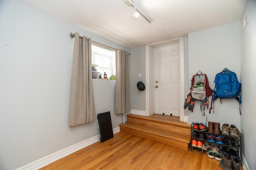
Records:
[[[135,135],[135,136],[138,136],[138,137],[142,137],[142,138],[145,138],[145,139],[148,139],[148,140],[151,140],[151,141],[162,143],[164,145],[168,145],[168,146],[171,146],[171,147],[176,147],[176,148],[179,148],[179,149],[182,149],[182,150],[188,150],[188,147],[189,147],[189,143],[184,143],[184,142],[181,142],[181,141],[176,141],[174,139],[168,139],[168,138],[161,137],[161,136],[158,136],[158,135],[145,133],[145,132],[138,131],[138,130],[132,129],[132,128],[127,128],[127,127],[120,126],[120,131],[122,131],[124,133],[129,133],[131,135]]]

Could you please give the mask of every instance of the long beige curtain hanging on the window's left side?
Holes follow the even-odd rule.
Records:
[[[80,38],[75,33],[69,125],[90,123],[95,119],[91,38]]]

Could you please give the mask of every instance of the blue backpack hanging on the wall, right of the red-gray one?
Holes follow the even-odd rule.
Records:
[[[238,82],[236,73],[224,68],[215,76],[215,88],[213,94],[213,102],[217,99],[231,99],[235,98],[239,104],[242,100],[240,97],[241,83]],[[220,100],[221,102],[221,100]],[[240,108],[239,108],[240,110]],[[213,110],[214,113],[214,110]],[[241,114],[241,110],[240,110]]]

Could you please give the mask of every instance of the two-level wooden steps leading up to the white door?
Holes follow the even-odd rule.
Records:
[[[190,125],[180,122],[179,117],[166,115],[141,116],[134,114],[126,116],[126,123],[119,124],[120,131],[188,150],[191,139]]]

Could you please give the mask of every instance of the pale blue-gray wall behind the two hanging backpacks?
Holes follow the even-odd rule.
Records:
[[[228,68],[236,73],[240,81],[240,55],[240,21],[189,33],[188,78],[191,80],[200,70],[207,75],[209,85],[214,89],[215,75]],[[222,99],[222,104],[218,99],[214,102],[214,113],[209,114],[209,109],[205,109],[205,113],[202,116],[200,101],[196,101],[193,112],[189,111],[189,123],[206,123],[208,120],[221,126],[223,123],[233,124],[240,129],[239,102],[235,99]]]

